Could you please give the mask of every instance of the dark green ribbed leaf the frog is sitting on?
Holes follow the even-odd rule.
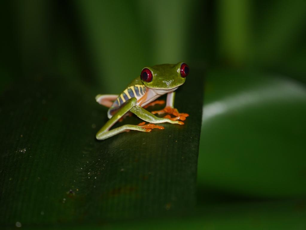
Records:
[[[0,101],[1,224],[99,223],[192,209],[200,74],[194,70],[177,90],[176,107],[190,115],[185,125],[105,141],[95,140],[107,121],[107,108],[95,102],[103,92],[60,78],[13,85]],[[131,117],[123,123],[140,122]]]

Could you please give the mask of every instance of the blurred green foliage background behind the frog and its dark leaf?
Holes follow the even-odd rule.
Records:
[[[204,79],[197,204],[176,228],[306,228],[305,1],[34,0],[2,9],[1,95],[45,76],[114,94],[144,66],[179,61]]]

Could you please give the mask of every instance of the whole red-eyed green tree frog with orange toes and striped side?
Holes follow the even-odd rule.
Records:
[[[128,87],[119,95],[97,95],[96,101],[109,107],[107,116],[109,120],[97,132],[96,138],[104,140],[129,130],[150,132],[152,129],[164,129],[163,126],[155,125],[159,123],[172,123],[183,125],[183,120],[188,117],[187,113],[179,113],[174,108],[174,96],[180,85],[184,84],[186,76],[189,74],[189,67],[184,62],[177,64],[162,64],[142,69],[140,76],[136,77]],[[164,104],[165,101],[156,100],[167,93],[166,106],[159,111],[149,112],[147,107],[155,104]],[[135,114],[142,122],[138,125],[123,125],[110,130],[110,128],[126,115]],[[163,118],[154,114],[167,114]],[[174,115],[174,117],[171,117]]]

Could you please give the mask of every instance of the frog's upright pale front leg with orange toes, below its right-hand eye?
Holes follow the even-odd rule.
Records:
[[[166,107],[163,108],[162,110],[158,111],[152,111],[152,114],[172,114],[175,117],[171,117],[170,115],[166,115],[164,118],[168,118],[171,120],[182,120],[184,121],[186,117],[189,116],[188,113],[179,113],[176,108],[174,108],[174,98],[175,98],[175,92],[170,92],[167,94],[167,102],[166,102]]]

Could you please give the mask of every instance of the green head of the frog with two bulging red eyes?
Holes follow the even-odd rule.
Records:
[[[184,62],[145,67],[140,74],[143,84],[151,89],[174,89],[184,84],[189,67]]]

